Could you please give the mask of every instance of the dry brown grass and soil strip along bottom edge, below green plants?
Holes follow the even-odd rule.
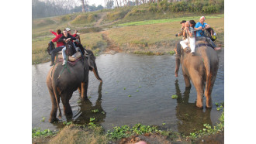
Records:
[[[123,139],[109,139],[100,126],[81,126],[67,125],[56,135],[47,137],[33,138],[33,143],[112,143],[112,144],[131,144],[144,141],[153,144],[171,144],[171,143],[224,143],[224,133],[220,132],[214,135],[207,135],[201,139],[192,140],[189,137],[182,137],[178,133],[161,135],[159,133],[146,133],[143,135],[132,135]]]

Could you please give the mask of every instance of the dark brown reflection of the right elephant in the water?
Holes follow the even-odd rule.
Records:
[[[178,80],[175,81],[177,98],[176,117],[178,118],[178,132],[189,135],[190,132],[202,130],[203,124],[212,125],[210,118],[211,108],[197,108],[195,102],[189,103],[190,88],[185,88],[184,93],[179,89]]]

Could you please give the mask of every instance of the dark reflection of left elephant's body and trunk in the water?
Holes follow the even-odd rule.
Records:
[[[98,94],[99,97],[95,106],[92,105],[92,102],[89,99],[81,101],[78,105],[80,110],[77,115],[74,115],[74,123],[85,124],[90,122],[90,118],[95,118],[96,123],[104,122],[104,119],[106,118],[106,111],[102,108],[102,83],[99,84]]]

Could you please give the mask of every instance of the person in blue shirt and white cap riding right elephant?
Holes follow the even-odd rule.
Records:
[[[216,47],[215,43],[213,43],[212,39],[205,36],[205,29],[209,29],[210,26],[205,23],[206,17],[202,16],[199,19],[199,22],[195,24],[196,30],[196,40],[204,40],[208,42],[211,46],[213,46],[214,50],[220,50],[220,47]]]

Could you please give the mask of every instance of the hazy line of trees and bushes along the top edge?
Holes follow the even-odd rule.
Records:
[[[224,9],[224,0],[102,0],[104,6],[88,5],[88,0],[79,1],[80,6],[77,6],[74,0],[52,0],[51,2],[32,0],[32,19],[146,4],[151,12],[170,10],[171,12],[212,13]]]

